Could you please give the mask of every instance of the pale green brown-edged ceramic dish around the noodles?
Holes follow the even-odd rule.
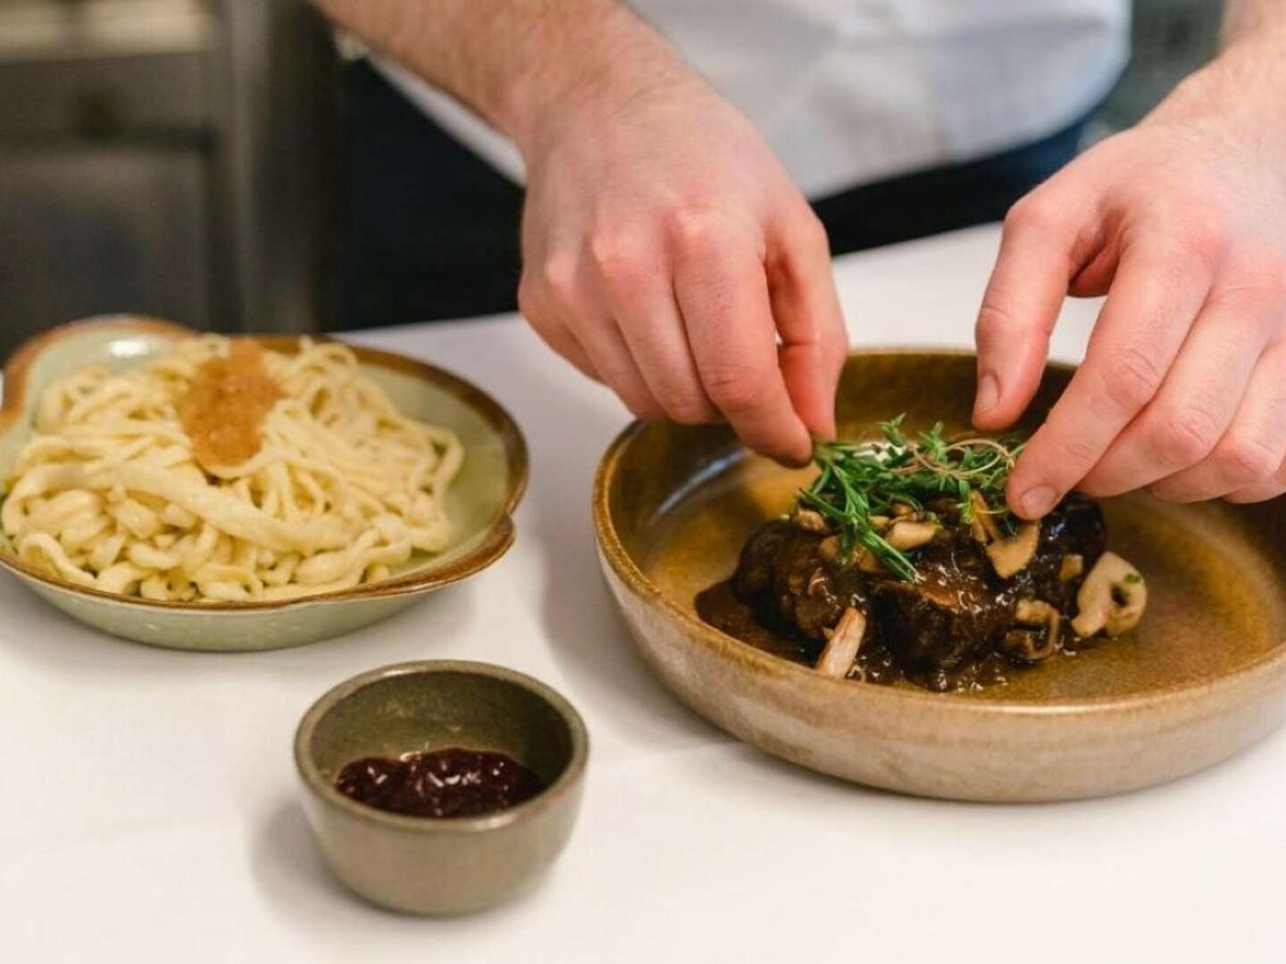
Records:
[[[127,368],[194,334],[157,319],[109,316],[54,328],[9,360],[0,406],[0,481],[31,437],[32,413],[53,379],[93,364]],[[297,339],[258,335],[294,351]],[[154,603],[84,589],[21,562],[0,533],[0,566],[81,622],[116,636],[175,649],[258,650],[294,647],[368,626],[426,593],[486,568],[513,544],[512,513],[527,479],[527,450],[513,419],[490,396],[448,371],[401,355],[354,346],[363,374],[397,407],[449,425],[466,459],[448,495],[458,539],[440,555],[417,555],[387,580],[285,603]]]

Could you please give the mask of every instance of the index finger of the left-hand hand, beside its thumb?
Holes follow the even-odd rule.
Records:
[[[759,252],[705,226],[684,231],[674,293],[706,393],[751,449],[804,464],[813,442],[777,361],[777,329]]]

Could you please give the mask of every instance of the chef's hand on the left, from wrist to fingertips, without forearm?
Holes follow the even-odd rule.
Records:
[[[826,233],[768,147],[678,64],[593,85],[518,136],[522,314],[635,414],[727,419],[810,458],[847,351]],[[630,77],[622,66],[617,77]]]

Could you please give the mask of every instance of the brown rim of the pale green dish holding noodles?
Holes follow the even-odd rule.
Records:
[[[40,359],[48,348],[66,338],[84,334],[85,332],[98,330],[118,330],[122,335],[159,334],[166,338],[175,339],[192,338],[194,335],[203,334],[202,332],[185,328],[175,321],[149,317],[145,315],[96,315],[94,317],[55,325],[48,332],[42,332],[41,334],[30,338],[19,346],[5,362],[4,395],[0,397],[0,434],[8,432],[9,427],[22,418],[28,410],[28,401],[26,398],[27,377],[37,359]],[[249,334],[235,337],[253,338],[266,348],[280,351],[283,353],[292,353],[292,351],[298,347],[298,339],[303,335]],[[394,371],[401,371],[419,378],[421,380],[430,382],[439,388],[444,388],[446,392],[464,402],[468,407],[477,411],[496,432],[505,450],[509,490],[505,494],[504,506],[496,517],[496,521],[482,533],[481,541],[473,546],[473,549],[441,569],[428,572],[413,571],[394,578],[381,580],[378,582],[367,582],[354,586],[352,589],[316,593],[312,595],[298,596],[297,599],[253,603],[183,603],[105,593],[100,589],[77,586],[75,582],[69,582],[57,576],[50,576],[33,566],[28,566],[12,553],[3,549],[0,549],[0,566],[4,566],[5,568],[12,569],[27,578],[66,593],[94,599],[107,599],[141,609],[166,609],[170,612],[193,613],[252,613],[265,611],[284,612],[287,609],[311,605],[314,603],[345,603],[355,599],[385,599],[390,596],[426,593],[428,590],[439,589],[451,582],[459,582],[460,580],[468,578],[500,559],[509,550],[509,546],[513,545],[516,535],[513,512],[517,509],[518,503],[522,500],[522,495],[526,491],[529,474],[527,442],[526,438],[523,438],[522,429],[518,428],[518,423],[514,422],[513,416],[505,411],[500,402],[472,382],[468,382],[446,369],[431,365],[427,361],[419,361],[418,359],[397,355],[391,351],[382,351],[379,348],[367,348],[360,344],[349,344],[340,338],[332,338],[324,334],[310,334],[307,337],[315,342],[338,342],[341,344],[346,344],[352,353],[356,355],[358,361],[360,362],[387,368]]]

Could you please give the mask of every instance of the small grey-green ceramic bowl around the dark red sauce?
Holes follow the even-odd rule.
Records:
[[[332,785],[354,760],[444,747],[507,753],[548,788],[495,814],[426,819],[364,806]],[[367,900],[415,914],[482,910],[531,886],[571,834],[588,753],[580,713],[549,686],[453,659],[341,683],[294,735],[303,811],[327,865]]]

